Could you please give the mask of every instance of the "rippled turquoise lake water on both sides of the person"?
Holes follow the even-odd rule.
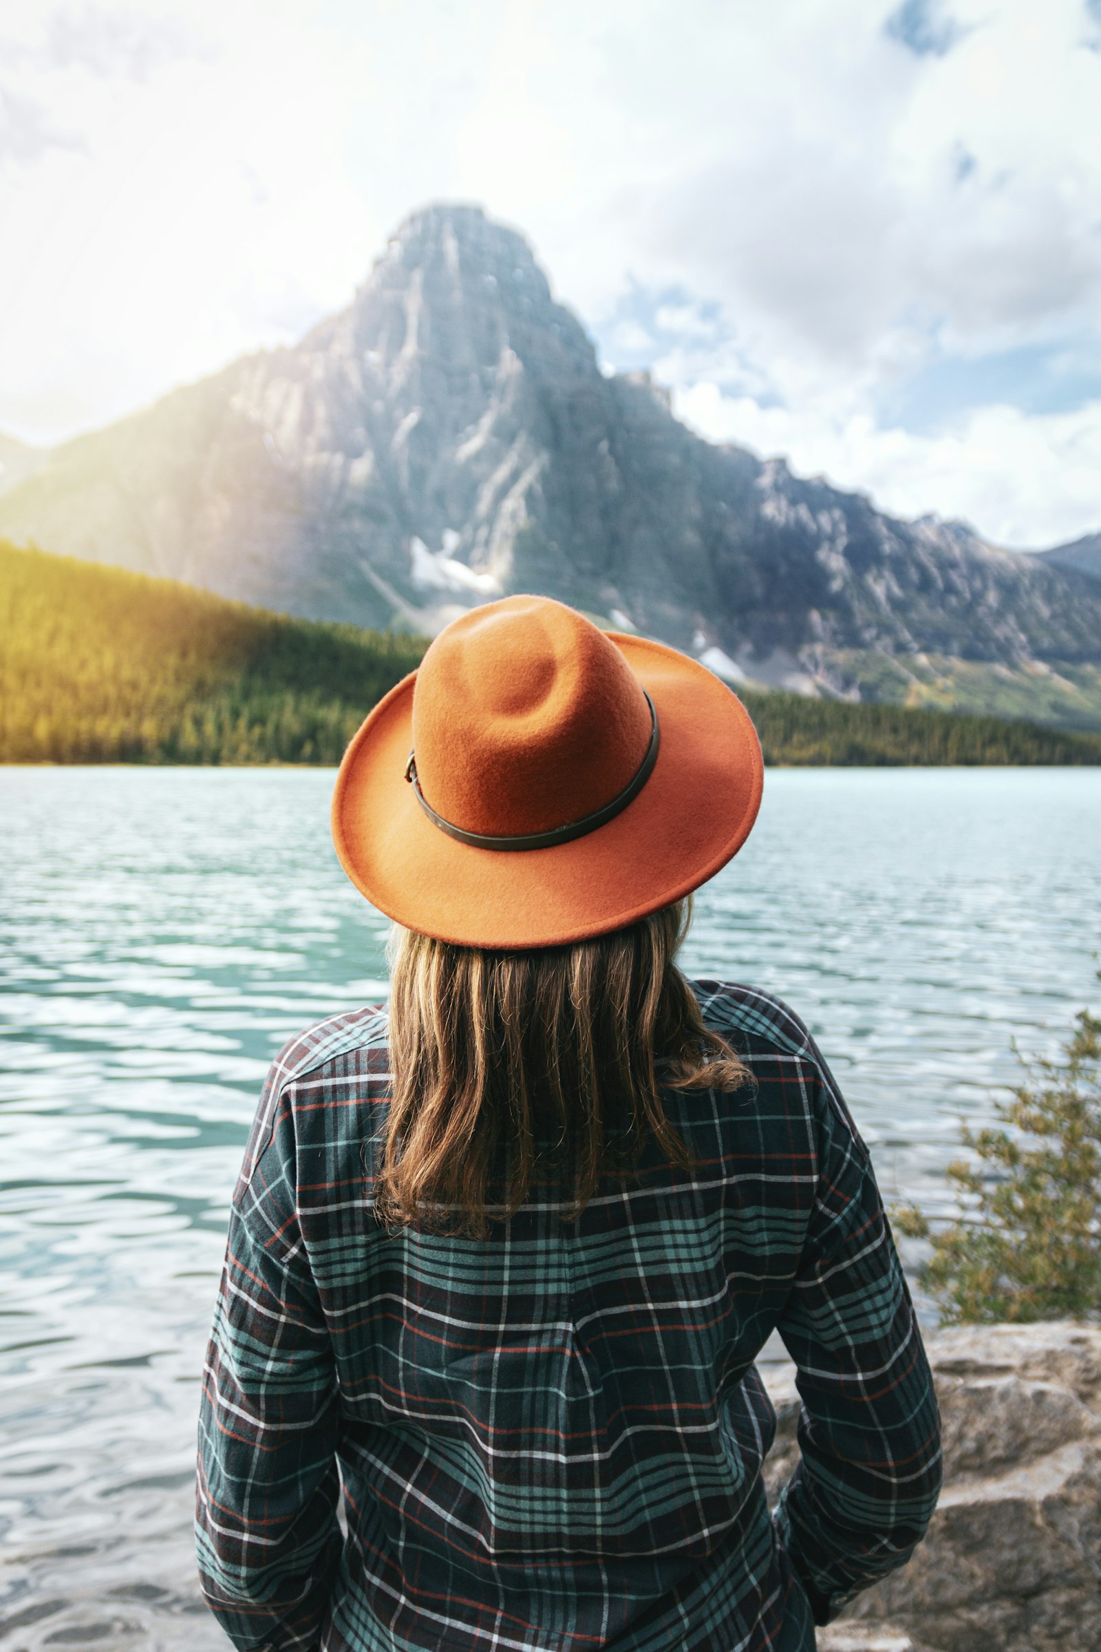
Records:
[[[383,990],[317,770],[0,770],[0,1644],[203,1652],[198,1373],[267,1061]],[[886,1193],[1101,996],[1101,771],[773,771],[685,963],[807,1019]]]

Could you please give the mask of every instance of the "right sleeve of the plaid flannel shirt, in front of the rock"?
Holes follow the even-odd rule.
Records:
[[[941,1488],[933,1376],[868,1151],[817,1094],[819,1184],[779,1333],[802,1399],[776,1521],[817,1624],[903,1566]]]

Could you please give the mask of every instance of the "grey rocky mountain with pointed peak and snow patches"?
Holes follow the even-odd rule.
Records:
[[[1101,659],[1088,577],[715,448],[644,378],[604,377],[475,208],[411,218],[294,349],[56,449],[0,532],[366,624],[538,590],[804,687],[847,649]]]

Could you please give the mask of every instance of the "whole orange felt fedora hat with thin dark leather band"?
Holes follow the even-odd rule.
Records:
[[[388,917],[553,947],[706,882],[761,805],[740,699],[687,654],[507,596],[439,633],[345,752],[340,864]]]

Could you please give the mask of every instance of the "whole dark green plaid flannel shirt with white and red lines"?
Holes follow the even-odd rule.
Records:
[[[698,1166],[654,1150],[576,1221],[536,1181],[487,1241],[375,1218],[385,1009],[279,1054],[200,1419],[203,1593],[243,1652],[763,1652],[910,1556],[939,1419],[867,1148],[784,1004],[695,991],[756,1080],[665,1092]],[[802,1419],[771,1517],[773,1328]]]

